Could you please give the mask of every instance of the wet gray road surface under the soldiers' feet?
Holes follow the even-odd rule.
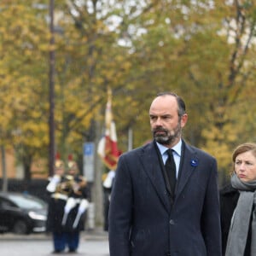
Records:
[[[53,247],[50,236],[0,236],[1,256],[109,256],[107,236],[82,235],[78,253],[61,254],[51,253]]]

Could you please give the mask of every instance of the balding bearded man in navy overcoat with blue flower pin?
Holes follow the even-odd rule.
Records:
[[[120,156],[110,201],[111,256],[220,256],[217,162],[181,139],[188,115],[173,93],[149,109],[154,141]],[[175,192],[166,149],[176,165]]]

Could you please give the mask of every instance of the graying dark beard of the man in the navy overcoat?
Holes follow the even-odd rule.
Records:
[[[157,132],[159,131],[161,134],[157,135]],[[181,132],[182,129],[180,123],[178,123],[172,131],[168,131],[162,127],[158,127],[152,130],[155,141],[163,145],[172,145],[172,143],[174,143],[177,138],[181,136]]]

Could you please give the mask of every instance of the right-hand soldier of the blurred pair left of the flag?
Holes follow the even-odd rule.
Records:
[[[72,180],[72,191],[64,209],[62,226],[67,234],[69,252],[76,252],[79,247],[79,234],[84,230],[85,211],[88,207],[87,182],[79,174],[79,167],[73,160],[68,161],[67,178]]]

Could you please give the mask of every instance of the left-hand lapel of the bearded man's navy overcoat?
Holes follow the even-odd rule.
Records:
[[[154,143],[150,143],[147,148],[144,148],[141,154],[141,160],[144,171],[147,173],[156,193],[159,195],[160,201],[162,201],[166,210],[170,211],[171,205],[166,191],[166,183],[162,175],[160,160],[154,148]]]

